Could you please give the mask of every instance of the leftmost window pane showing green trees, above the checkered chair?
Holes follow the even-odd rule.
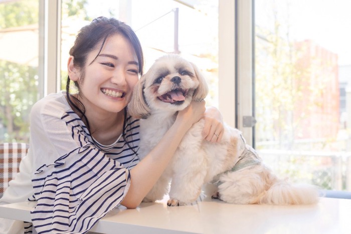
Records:
[[[40,98],[39,0],[0,1],[0,142],[29,142]]]

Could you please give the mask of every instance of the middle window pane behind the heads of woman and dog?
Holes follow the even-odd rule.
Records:
[[[144,52],[145,72],[156,58],[170,52],[178,52],[197,64],[210,86],[207,104],[218,106],[218,0],[74,2],[62,1],[62,89],[75,35],[92,19],[105,16],[125,22],[136,32]]]

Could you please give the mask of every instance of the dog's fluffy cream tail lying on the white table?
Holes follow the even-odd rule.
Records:
[[[292,184],[277,180],[262,193],[258,203],[276,205],[314,204],[319,200],[319,190],[308,184]]]

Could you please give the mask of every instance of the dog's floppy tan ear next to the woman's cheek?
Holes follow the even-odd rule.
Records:
[[[132,98],[128,104],[128,112],[135,119],[146,119],[150,115],[150,108],[147,106],[143,90],[145,86],[145,76],[141,76],[133,90]]]

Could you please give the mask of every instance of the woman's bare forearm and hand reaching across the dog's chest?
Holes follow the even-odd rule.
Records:
[[[135,208],[156,183],[166,168],[175,150],[190,127],[203,118],[205,101],[194,102],[178,113],[174,124],[169,128],[160,142],[146,157],[130,170],[131,183],[121,202],[128,208]]]

